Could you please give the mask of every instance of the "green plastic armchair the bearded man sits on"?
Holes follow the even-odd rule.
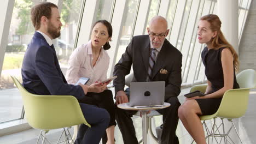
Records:
[[[51,129],[60,128],[63,128],[63,131],[57,143],[61,143],[60,139],[63,134],[65,134],[65,141],[62,142],[69,143],[70,140],[74,143],[68,127],[83,123],[91,127],[86,122],[78,100],[75,97],[71,95],[32,94],[26,91],[16,77],[11,76],[11,78],[21,93],[28,124],[35,129],[41,130],[37,143],[39,139],[42,139],[42,143],[45,143],[45,141],[49,142],[45,134]]]

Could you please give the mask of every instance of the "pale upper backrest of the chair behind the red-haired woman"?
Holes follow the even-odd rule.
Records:
[[[240,88],[256,87],[256,72],[253,69],[246,69],[236,75]]]

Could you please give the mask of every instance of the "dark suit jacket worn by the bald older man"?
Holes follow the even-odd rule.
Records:
[[[114,67],[113,75],[118,76],[113,81],[115,93],[124,91],[125,75],[130,73],[131,65],[134,73],[132,82],[146,81],[149,49],[149,35],[138,35],[132,38],[130,44],[126,47],[125,53]],[[170,97],[177,97],[181,92],[181,67],[182,53],[165,39],[153,68],[153,81],[165,81],[165,100]],[[161,69],[167,70],[167,74],[161,74]]]

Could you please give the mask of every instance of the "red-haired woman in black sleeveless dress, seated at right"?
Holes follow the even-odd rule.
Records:
[[[201,53],[208,83],[206,95],[187,98],[178,109],[179,118],[197,144],[206,143],[199,116],[215,113],[223,94],[229,89],[239,88],[235,76],[239,65],[238,56],[220,31],[221,25],[217,15],[201,17],[197,35],[199,43],[206,44]]]

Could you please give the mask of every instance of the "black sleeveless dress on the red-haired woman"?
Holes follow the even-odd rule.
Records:
[[[226,47],[221,47],[218,50],[205,47],[201,53],[202,62],[205,65],[205,75],[207,80],[212,83],[212,93],[224,87],[224,77],[222,69],[222,50]],[[239,88],[236,81],[235,68],[234,68],[234,85],[233,88]],[[202,115],[212,115],[215,113],[222,101],[222,98],[211,99],[195,99],[200,106]]]

